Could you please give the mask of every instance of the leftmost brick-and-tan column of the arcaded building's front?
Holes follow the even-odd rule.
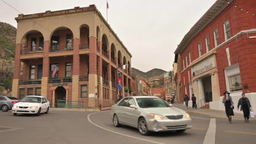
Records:
[[[19,79],[21,75],[21,43],[16,44],[14,68],[13,68],[13,85],[12,85],[12,96],[19,98]]]

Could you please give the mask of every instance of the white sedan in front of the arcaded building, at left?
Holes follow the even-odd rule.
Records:
[[[17,113],[37,114],[49,112],[50,102],[44,96],[26,96],[12,107],[13,115]]]

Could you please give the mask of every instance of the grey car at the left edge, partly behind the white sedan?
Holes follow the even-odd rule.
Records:
[[[3,112],[7,112],[8,110],[11,110],[13,104],[19,101],[20,100],[18,98],[12,96],[0,96],[0,109]]]

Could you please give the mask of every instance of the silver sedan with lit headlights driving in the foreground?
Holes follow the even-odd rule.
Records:
[[[189,114],[155,96],[131,96],[123,98],[111,107],[115,127],[129,125],[138,128],[141,135],[151,131],[184,132],[192,128]]]

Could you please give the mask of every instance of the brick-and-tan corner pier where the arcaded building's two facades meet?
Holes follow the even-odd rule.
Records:
[[[97,55],[96,55],[96,37],[89,37],[89,84],[88,94],[94,94],[94,97],[88,98],[88,107],[97,107]],[[97,93],[98,94],[98,93]]]

